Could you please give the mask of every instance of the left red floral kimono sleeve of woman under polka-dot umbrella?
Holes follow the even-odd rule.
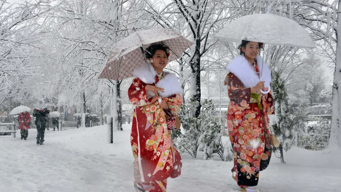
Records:
[[[128,97],[134,106],[144,106],[149,104],[147,99],[146,83],[139,78],[135,78],[128,89]]]

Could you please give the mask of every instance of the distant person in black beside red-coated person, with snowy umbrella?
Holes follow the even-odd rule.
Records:
[[[50,113],[44,99],[39,99],[33,111],[35,117],[35,126],[37,128],[37,145],[44,145],[44,136],[46,129],[47,114]]]

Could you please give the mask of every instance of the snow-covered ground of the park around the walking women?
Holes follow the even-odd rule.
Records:
[[[19,132],[19,131],[18,131]],[[45,145],[0,136],[0,192],[133,192],[130,125],[107,143],[105,126],[46,131]],[[201,160],[182,154],[182,174],[168,179],[167,192],[236,192],[232,162]],[[286,164],[272,157],[260,174],[262,192],[339,191],[341,150],[308,151],[293,147]]]

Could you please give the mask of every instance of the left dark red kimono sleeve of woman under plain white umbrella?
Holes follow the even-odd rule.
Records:
[[[228,78],[228,98],[235,104],[240,104],[242,101],[250,103],[251,88],[244,88],[243,83],[233,73]]]

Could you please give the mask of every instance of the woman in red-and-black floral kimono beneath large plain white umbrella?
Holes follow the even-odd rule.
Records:
[[[263,80],[260,80],[262,57],[258,55],[262,43],[242,41],[240,55],[226,67],[228,75],[227,127],[234,149],[232,177],[241,191],[258,191],[254,186],[259,180],[259,172],[270,161],[271,150],[268,141],[268,115],[274,114],[271,92],[267,90],[271,73],[263,66]],[[265,87],[265,88],[264,88]],[[264,131],[266,130],[266,131]]]

